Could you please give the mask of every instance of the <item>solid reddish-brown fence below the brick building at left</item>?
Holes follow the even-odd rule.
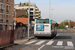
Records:
[[[0,30],[0,47],[14,43],[15,32],[14,30]]]

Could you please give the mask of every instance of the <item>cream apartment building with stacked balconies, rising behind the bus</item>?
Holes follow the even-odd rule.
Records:
[[[14,7],[15,9],[27,9],[28,11],[28,6],[26,5],[15,4]],[[39,11],[35,3],[30,3],[30,18],[33,20],[41,18],[41,11]]]

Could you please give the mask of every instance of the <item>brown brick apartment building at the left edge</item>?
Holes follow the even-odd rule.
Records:
[[[13,30],[14,0],[0,0],[0,30]]]

